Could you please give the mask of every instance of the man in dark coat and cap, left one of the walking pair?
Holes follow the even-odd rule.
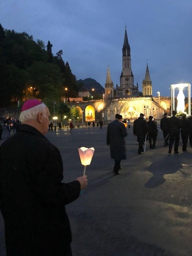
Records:
[[[133,122],[133,134],[137,136],[139,142],[138,155],[143,154],[143,143],[147,134],[147,121],[144,119],[144,114],[140,114],[139,118]]]

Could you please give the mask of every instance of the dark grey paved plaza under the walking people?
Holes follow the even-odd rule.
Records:
[[[66,206],[73,256],[192,256],[192,148],[168,154],[159,130],[156,149],[137,155],[136,137],[128,129],[127,160],[121,174],[106,145],[105,125],[48,132],[64,163],[64,182],[83,174],[78,148],[94,147],[87,166],[88,187]],[[0,144],[7,134],[3,131]],[[6,256],[0,215],[0,256]],[[54,235],[54,234],[53,234]]]

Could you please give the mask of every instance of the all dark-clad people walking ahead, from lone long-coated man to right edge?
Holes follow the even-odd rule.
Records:
[[[171,154],[173,144],[174,153],[178,154],[180,132],[183,142],[182,150],[187,150],[188,137],[192,147],[192,117],[186,118],[183,115],[180,118],[176,117],[177,111],[172,111],[172,117],[168,118],[167,113],[163,114],[160,120],[160,129],[163,132],[164,147],[168,146],[168,153]],[[138,155],[143,154],[146,147],[146,141],[149,140],[149,148],[156,149],[156,141],[158,137],[157,122],[153,116],[149,116],[149,121],[144,118],[144,114],[140,113],[133,123],[133,134],[137,137]],[[128,135],[122,115],[116,114],[115,120],[107,127],[107,145],[110,146],[111,159],[114,159],[115,164],[113,172],[115,175],[120,174],[121,160],[126,159],[126,142],[125,137]]]

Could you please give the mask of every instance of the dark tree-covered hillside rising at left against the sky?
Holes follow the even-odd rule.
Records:
[[[54,57],[50,41],[46,47],[26,32],[3,30],[0,25],[0,106],[32,97],[59,102],[61,96],[78,95],[76,77],[68,62],[64,64],[63,51]]]

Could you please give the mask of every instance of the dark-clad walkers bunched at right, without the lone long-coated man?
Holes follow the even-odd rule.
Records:
[[[163,118],[160,120],[160,129],[163,132],[164,147],[168,146],[168,153],[171,154],[173,144],[174,153],[178,154],[180,132],[182,138],[182,151],[187,150],[188,137],[190,145],[192,146],[192,117],[186,118],[184,114],[181,119],[176,117],[177,111],[172,111],[172,117],[168,118],[167,113],[164,113]],[[149,140],[150,149],[156,148],[156,141],[158,138],[158,128],[157,122],[154,120],[153,116],[149,116],[149,121],[147,122],[144,115],[141,113],[139,118],[133,123],[133,134],[137,136],[137,141],[139,143],[138,154],[143,154],[143,145],[146,140]],[[159,139],[159,138],[158,138]]]

